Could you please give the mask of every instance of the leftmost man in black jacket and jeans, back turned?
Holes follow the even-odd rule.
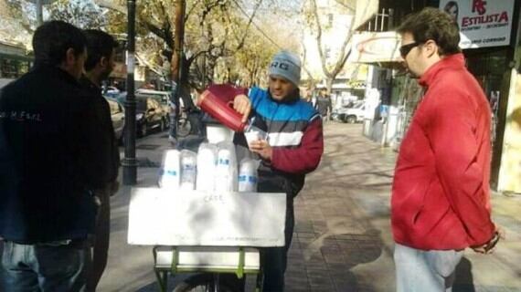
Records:
[[[92,107],[78,79],[81,30],[37,28],[35,68],[0,92],[2,291],[80,291],[90,261],[96,203]]]

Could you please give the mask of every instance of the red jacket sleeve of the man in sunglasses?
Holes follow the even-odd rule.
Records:
[[[440,92],[429,116],[427,133],[436,172],[469,243],[484,245],[494,235],[489,203],[490,114],[472,97]]]

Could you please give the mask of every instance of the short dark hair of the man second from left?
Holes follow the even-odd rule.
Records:
[[[101,57],[111,57],[114,47],[118,47],[116,40],[106,32],[97,29],[83,31],[87,37],[87,60],[85,70],[90,71],[100,62]]]

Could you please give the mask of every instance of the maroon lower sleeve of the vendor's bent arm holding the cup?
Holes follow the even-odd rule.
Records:
[[[324,152],[322,120],[316,118],[303,132],[301,145],[297,148],[273,148],[271,166],[282,172],[313,172]]]

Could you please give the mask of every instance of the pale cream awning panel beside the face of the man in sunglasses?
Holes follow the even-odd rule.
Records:
[[[356,34],[353,36],[351,55],[347,61],[352,63],[401,62],[399,46],[400,37],[393,31]]]

